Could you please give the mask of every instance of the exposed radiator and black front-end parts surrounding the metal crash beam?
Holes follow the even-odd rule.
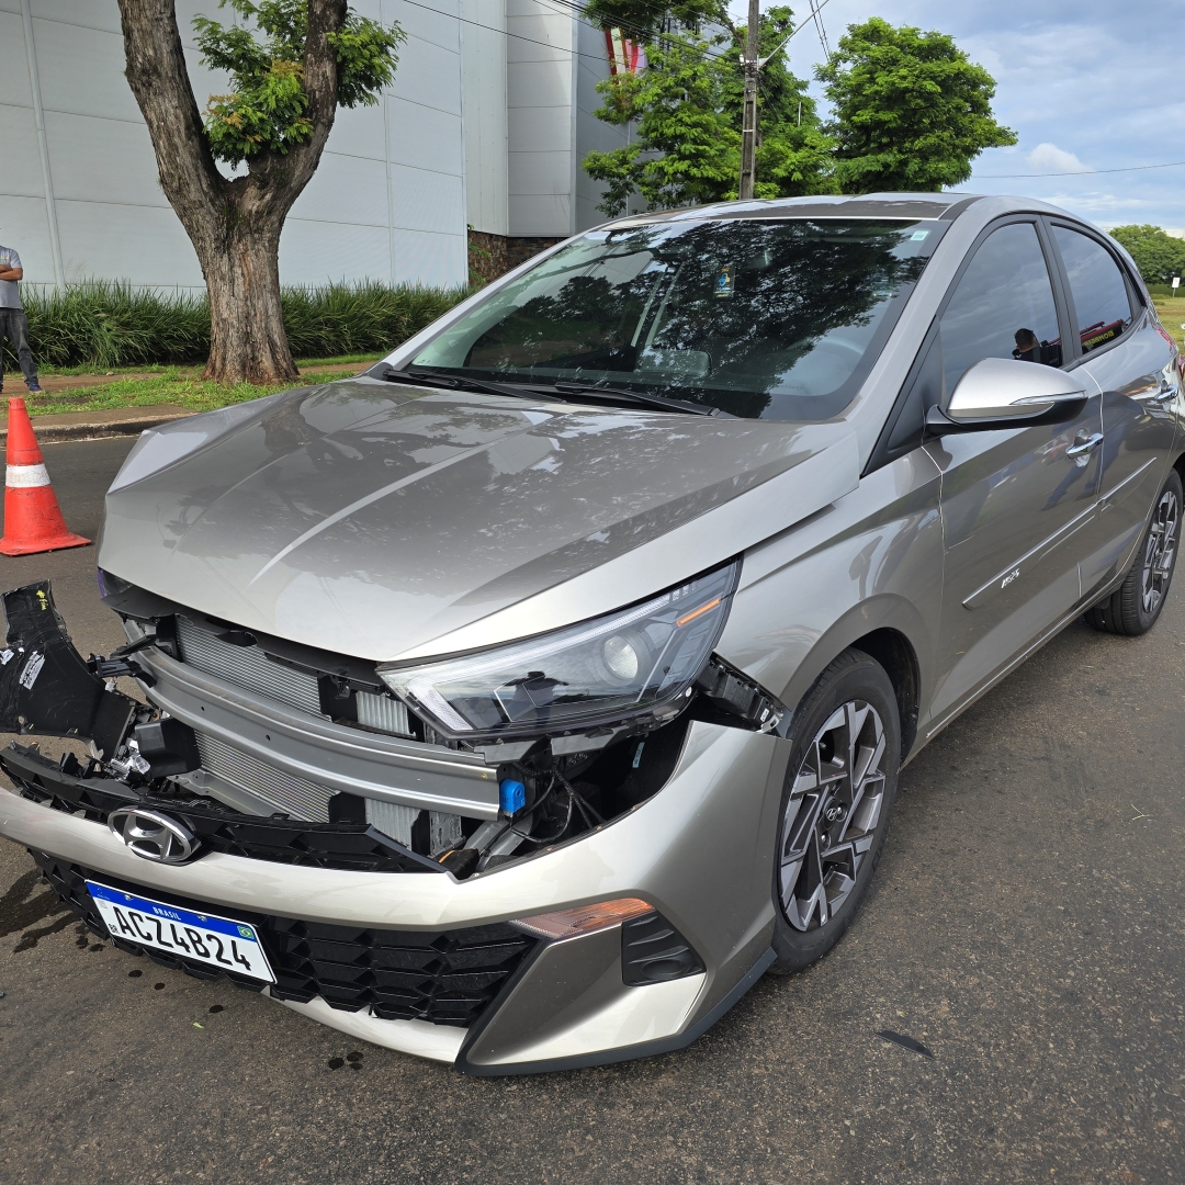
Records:
[[[0,755],[0,764],[26,794],[104,821],[124,808],[172,811],[194,840],[184,859],[228,851],[331,867],[361,860],[385,871],[408,871],[410,861],[416,871],[427,865],[463,879],[551,851],[645,802],[670,780],[693,719],[773,731],[786,716],[762,687],[710,655],[670,711],[479,749],[482,763],[497,770],[497,818],[421,809],[296,776],[270,763],[267,751],[248,752],[200,725],[194,731],[104,683],[130,674],[150,697],[154,677],[135,655],[150,664],[153,654],[164,653],[334,724],[438,747],[443,738],[391,696],[373,664],[263,639],[123,582],[113,594],[113,577],[101,577],[104,600],[126,615],[128,645],[84,661],[45,582],[4,597],[11,636],[8,658],[0,655],[0,688],[14,713],[11,723],[0,723],[12,731],[89,739],[90,760],[82,764],[70,756],[55,767],[15,747]],[[126,833],[127,827],[117,832]]]

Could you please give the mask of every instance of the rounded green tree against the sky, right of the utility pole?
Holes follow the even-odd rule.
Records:
[[[873,17],[848,26],[815,76],[833,111],[844,193],[961,185],[985,148],[1017,142],[992,115],[995,79],[946,33]]]

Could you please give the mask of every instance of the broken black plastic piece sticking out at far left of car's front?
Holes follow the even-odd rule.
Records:
[[[82,658],[49,581],[5,592],[4,610],[8,636],[0,651],[0,729],[79,737],[114,756],[137,705],[104,679],[132,673],[132,665],[120,661],[110,673],[101,670],[103,661]]]

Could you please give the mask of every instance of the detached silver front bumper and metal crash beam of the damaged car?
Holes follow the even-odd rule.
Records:
[[[250,924],[275,982],[233,969],[228,978],[376,1044],[481,1075],[679,1048],[771,960],[773,835],[789,748],[776,735],[688,715],[660,792],[562,844],[460,871],[371,826],[370,807],[364,818],[335,818],[332,806],[319,818],[268,813],[258,801],[236,809],[233,783],[203,796],[206,783],[194,779],[205,770],[185,771],[192,764],[164,750],[153,770],[148,750],[120,737],[137,719],[142,738],[161,722],[192,725],[203,744],[222,736],[248,757],[254,749],[276,776],[315,777],[337,801],[361,795],[425,816],[463,809],[473,826],[492,827],[497,767],[482,755],[292,711],[137,638],[114,661],[84,661],[47,585],[8,594],[5,607],[0,726],[88,738],[91,760],[53,763],[20,745],[0,754],[18,787],[0,792],[0,834],[30,848],[71,908],[124,949],[219,973],[110,934],[88,880]],[[149,688],[150,711],[114,690],[110,678],[123,673]],[[72,716],[55,707],[66,692]],[[641,752],[638,744],[635,770]],[[174,760],[180,776],[156,777]],[[114,826],[128,808],[164,812],[193,854],[162,863],[150,844],[147,856],[137,851]],[[590,930],[527,924],[622,898],[640,911]]]

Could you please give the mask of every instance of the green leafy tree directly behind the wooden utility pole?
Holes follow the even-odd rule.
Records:
[[[603,5],[602,5],[603,7]],[[616,19],[642,20],[646,9],[621,4]],[[607,19],[597,14],[597,19]],[[728,15],[716,13],[717,21]],[[723,201],[737,196],[741,168],[741,111],[744,26],[726,26],[710,39],[677,28],[646,44],[647,68],[616,75],[597,87],[604,105],[598,118],[634,123],[634,139],[610,152],[591,152],[585,172],[604,185],[600,210],[622,213],[638,193],[651,210]],[[656,27],[656,23],[652,24]],[[834,192],[830,180],[831,141],[819,126],[806,83],[789,69],[784,41],[793,13],[776,7],[762,15],[758,46],[768,62],[758,89],[757,185],[760,198]]]

